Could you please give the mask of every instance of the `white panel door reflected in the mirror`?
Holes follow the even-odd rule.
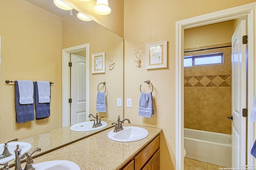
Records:
[[[71,125],[86,121],[86,57],[71,54]]]

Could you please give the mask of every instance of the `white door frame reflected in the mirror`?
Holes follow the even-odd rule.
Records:
[[[89,43],[62,49],[62,127],[70,125],[70,53],[86,50],[86,114],[89,111]],[[87,120],[86,116],[86,120]]]

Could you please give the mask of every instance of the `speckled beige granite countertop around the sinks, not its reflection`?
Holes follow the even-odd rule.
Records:
[[[78,164],[81,170],[118,170],[162,131],[160,128],[127,123],[123,126],[143,127],[148,130],[148,137],[134,142],[116,142],[108,138],[108,132],[114,130],[110,128],[34,158],[34,164],[50,160],[70,160]],[[22,167],[24,165],[25,163]],[[10,170],[14,170],[14,167]]]

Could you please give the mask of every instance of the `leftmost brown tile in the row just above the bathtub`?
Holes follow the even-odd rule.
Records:
[[[201,116],[184,115],[184,127],[188,129],[200,130]]]

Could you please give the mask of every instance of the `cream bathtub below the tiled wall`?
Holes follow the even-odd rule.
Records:
[[[232,135],[184,128],[186,158],[231,167]]]

